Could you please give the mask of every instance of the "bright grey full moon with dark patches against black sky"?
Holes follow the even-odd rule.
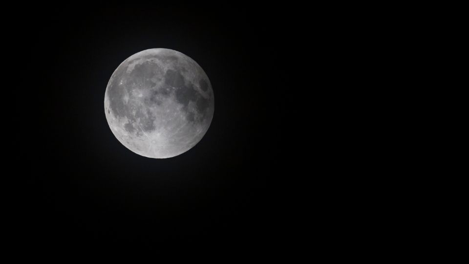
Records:
[[[209,129],[213,90],[191,58],[153,48],[117,67],[107,83],[104,108],[112,133],[129,150],[169,158],[190,150]]]

